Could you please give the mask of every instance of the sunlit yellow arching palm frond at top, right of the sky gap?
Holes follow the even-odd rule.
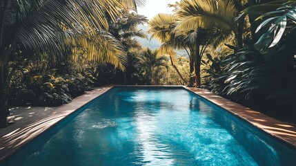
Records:
[[[215,26],[221,30],[233,30],[233,22],[237,10],[233,1],[195,1],[182,0],[177,10],[177,25],[179,30],[196,30]]]

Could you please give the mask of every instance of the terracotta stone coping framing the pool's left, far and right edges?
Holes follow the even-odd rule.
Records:
[[[120,85],[121,86],[121,85]],[[67,118],[72,113],[77,111],[79,108],[86,105],[88,102],[94,100],[99,97],[106,91],[109,91],[115,86],[101,86],[95,88],[93,91],[85,93],[75,99],[72,100],[69,104],[63,104],[61,107],[57,107],[57,109],[53,110],[49,116],[40,117],[38,120],[34,120],[31,122],[25,123],[15,123],[12,125],[18,125],[18,129],[14,129],[10,131],[4,136],[0,138],[0,162],[4,158],[10,156],[14,151],[26,145],[30,140],[36,138],[41,133],[47,131],[51,127],[55,126],[58,122]],[[124,86],[123,86],[124,87]],[[247,107],[244,107],[235,102],[231,102],[230,100],[226,100],[220,96],[214,95],[208,91],[204,91],[197,88],[188,88],[186,86],[126,86],[126,87],[183,87],[184,89],[188,89],[188,91],[192,91],[202,98],[206,98],[210,102],[218,105],[219,107],[233,113],[235,116],[246,120],[253,126],[262,129],[266,133],[279,138],[279,140],[283,140],[287,142],[289,145],[292,145],[296,148],[296,128],[286,122],[280,122],[279,120],[275,120],[268,116],[265,116],[262,113],[257,111],[253,111]],[[1,129],[0,129],[1,131]],[[0,132],[1,133],[1,132]]]

